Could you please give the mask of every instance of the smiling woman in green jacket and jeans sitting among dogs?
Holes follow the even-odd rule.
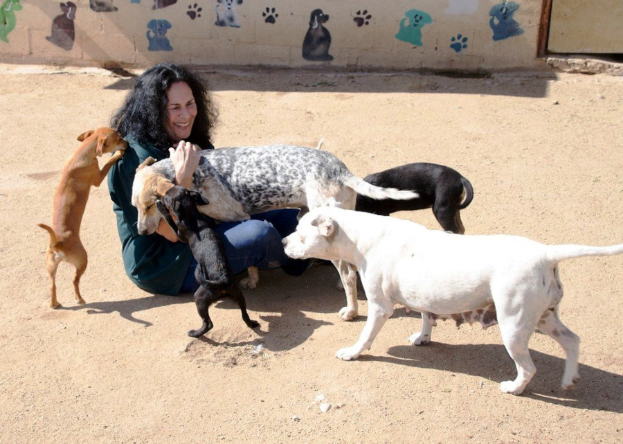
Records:
[[[164,220],[156,233],[138,234],[138,211],[132,206],[134,173],[147,157],[170,157],[176,183],[190,188],[199,151],[214,149],[216,116],[208,88],[199,76],[182,66],[161,63],[137,78],[111,120],[111,126],[129,145],[108,175],[123,263],[127,276],[146,292],[194,292],[199,286],[195,281],[197,262]],[[251,220],[219,224],[217,234],[233,272],[255,266],[282,267],[295,276],[303,273],[308,261],[288,258],[281,244],[282,238],[296,229],[297,213],[294,209],[274,210],[253,215]]]

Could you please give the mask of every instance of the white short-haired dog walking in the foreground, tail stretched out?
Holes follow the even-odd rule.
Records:
[[[341,208],[316,208],[283,240],[292,258],[344,260],[356,266],[368,298],[368,320],[352,347],[337,357],[356,359],[369,350],[383,323],[400,303],[422,312],[414,345],[431,340],[435,319],[500,324],[517,378],[500,389],[521,394],[536,371],[528,341],[539,328],[565,350],[563,389],[577,382],[579,337],[563,326],[557,305],[563,295],[559,261],[622,254],[613,247],[543,245],[519,236],[458,236],[428,230],[395,217]]]

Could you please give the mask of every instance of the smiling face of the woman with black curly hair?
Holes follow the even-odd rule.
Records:
[[[167,91],[166,130],[175,142],[186,140],[197,116],[197,103],[186,82],[174,82]]]

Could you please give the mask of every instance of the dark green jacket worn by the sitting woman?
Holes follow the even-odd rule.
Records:
[[[132,182],[136,168],[147,157],[165,159],[164,154],[147,142],[139,143],[132,136],[125,140],[125,155],[108,173],[108,189],[117,216],[117,229],[125,273],[139,288],[150,293],[179,293],[192,260],[188,244],[170,242],[157,233],[139,236],[136,230],[138,211],[132,205]],[[210,148],[213,148],[210,145]]]

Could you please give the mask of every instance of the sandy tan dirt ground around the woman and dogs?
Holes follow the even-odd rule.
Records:
[[[258,331],[228,301],[200,339],[189,294],[147,294],[125,276],[106,184],[82,221],[86,305],[73,269],[49,308],[44,251],[52,197],[78,134],[107,125],[132,78],[101,69],[0,65],[1,443],[620,443],[623,257],[561,265],[561,319],[580,335],[581,381],[563,391],[563,351],[535,334],[523,396],[498,327],[440,322],[413,347],[419,316],[397,308],[370,352],[343,322],[337,274],[260,273],[246,291]],[[363,176],[413,161],[451,166],[476,197],[467,233],[546,243],[623,242],[623,78],[505,73],[204,71],[220,109],[215,145],[296,143],[334,152]],[[439,226],[430,210],[397,213]],[[320,405],[330,405],[321,411]]]

